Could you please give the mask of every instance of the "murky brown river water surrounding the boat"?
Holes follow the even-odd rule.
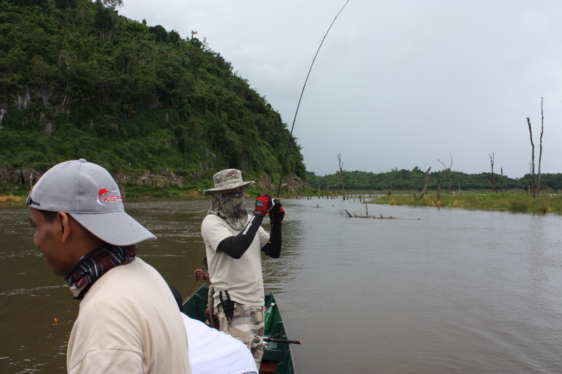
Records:
[[[562,217],[287,199],[284,250],[264,258],[299,373],[562,373]],[[248,201],[251,206],[251,201]],[[140,246],[183,294],[204,268],[209,200],[128,201]],[[0,208],[0,373],[63,373],[77,315]],[[193,290],[195,290],[193,288]],[[58,326],[54,319],[58,318]]]

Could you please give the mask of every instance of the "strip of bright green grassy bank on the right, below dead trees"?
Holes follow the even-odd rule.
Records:
[[[562,214],[562,195],[541,194],[535,199],[528,194],[417,194],[385,195],[369,201],[376,204],[434,206],[436,208],[464,208],[481,211],[509,211],[517,213]]]

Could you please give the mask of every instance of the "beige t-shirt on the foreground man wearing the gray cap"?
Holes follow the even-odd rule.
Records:
[[[140,258],[110,269],[80,302],[71,374],[190,373],[188,337],[162,276]]]

